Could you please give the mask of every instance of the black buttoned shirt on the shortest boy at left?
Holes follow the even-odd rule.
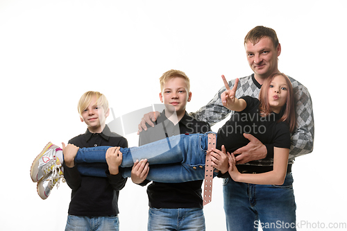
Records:
[[[79,148],[94,146],[120,146],[128,147],[126,138],[110,132],[106,125],[101,133],[91,133],[87,130],[69,140]],[[94,164],[94,166],[96,166]],[[105,164],[105,169],[108,169]],[[64,176],[67,185],[72,189],[69,214],[74,216],[115,216],[119,214],[118,196],[119,190],[126,185],[126,178],[121,174],[110,175],[106,171],[107,178],[83,176],[77,170],[77,164],[69,168],[64,163]]]

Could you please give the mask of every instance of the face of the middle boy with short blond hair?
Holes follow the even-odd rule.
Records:
[[[159,96],[160,101],[166,105],[167,110],[183,113],[187,102],[192,97],[192,93],[188,92],[187,82],[184,78],[174,77],[164,84]]]

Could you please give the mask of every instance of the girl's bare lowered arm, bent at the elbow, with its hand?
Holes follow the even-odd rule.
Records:
[[[239,173],[235,163],[235,156],[229,155],[229,174],[232,180],[257,185],[283,185],[287,173],[289,149],[274,148],[273,171],[259,174]]]

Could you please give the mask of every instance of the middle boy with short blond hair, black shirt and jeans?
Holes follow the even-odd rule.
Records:
[[[165,110],[160,113],[153,128],[139,135],[139,145],[155,142],[172,135],[204,133],[210,131],[208,123],[189,117],[185,111],[192,99],[189,78],[183,71],[169,70],[160,77],[160,101]],[[146,160],[135,162],[132,180],[147,185],[149,165]],[[203,180],[182,183],[152,182],[147,188],[149,196],[148,230],[205,230]]]

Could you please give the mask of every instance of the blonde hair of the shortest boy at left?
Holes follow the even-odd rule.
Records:
[[[81,99],[78,101],[78,106],[77,106],[78,114],[82,115],[82,112],[86,108],[88,108],[90,103],[92,103],[92,100],[94,99],[94,97],[96,97],[96,105],[103,107],[103,110],[107,112],[108,100],[106,99],[106,96],[104,94],[101,94],[100,92],[89,91],[89,92],[85,92],[85,94],[83,94],[81,96]]]

